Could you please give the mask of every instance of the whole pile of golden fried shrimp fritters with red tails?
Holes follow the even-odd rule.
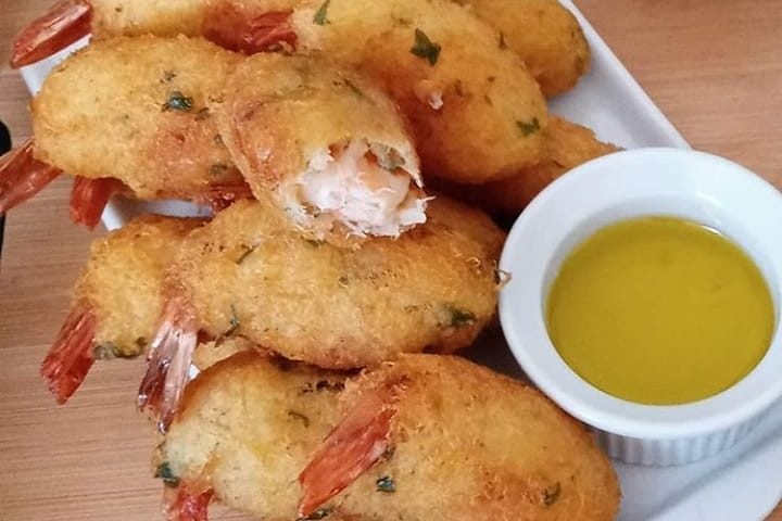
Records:
[[[113,194],[214,209],[97,241],[42,366],[63,403],[94,359],[148,353],[138,405],[169,519],[211,500],[268,520],[613,518],[589,433],[450,355],[508,276],[479,208],[518,213],[615,150],[547,113],[589,68],[567,10],[65,0],[13,63],[90,30],[33,101],[34,140],[0,160],[0,211],[62,171],[88,226]]]

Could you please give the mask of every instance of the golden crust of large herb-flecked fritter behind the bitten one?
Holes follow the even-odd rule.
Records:
[[[377,80],[411,119],[425,171],[482,183],[538,162],[545,100],[497,31],[446,0],[330,2],[318,24],[323,4],[294,12],[300,47]]]

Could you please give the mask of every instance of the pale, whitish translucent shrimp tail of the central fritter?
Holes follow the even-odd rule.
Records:
[[[138,392],[138,407],[149,407],[165,433],[174,419],[188,381],[188,371],[198,343],[198,327],[190,306],[181,297],[166,302],[157,333],[150,344],[149,366]]]

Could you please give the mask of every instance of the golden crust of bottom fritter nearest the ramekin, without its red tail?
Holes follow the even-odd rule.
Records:
[[[616,474],[583,425],[540,392],[451,356],[404,355],[349,383],[343,406],[403,378],[390,458],[328,505],[364,519],[614,519]],[[378,492],[388,476],[394,493]]]

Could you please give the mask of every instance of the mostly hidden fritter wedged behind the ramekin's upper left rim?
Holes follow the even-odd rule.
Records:
[[[436,182],[434,187],[492,215],[515,217],[559,176],[582,163],[620,150],[598,140],[591,129],[562,117],[552,117],[543,135],[544,151],[539,165],[480,187],[442,181]]]

